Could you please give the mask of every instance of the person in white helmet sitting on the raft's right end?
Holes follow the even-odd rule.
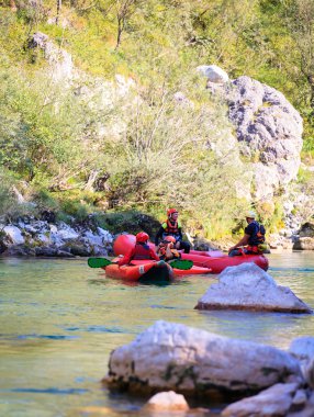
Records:
[[[248,212],[245,216],[247,226],[244,229],[244,237],[229,248],[229,257],[244,253],[262,253],[266,249],[265,227],[256,221],[256,213]],[[242,248],[243,247],[243,248]]]

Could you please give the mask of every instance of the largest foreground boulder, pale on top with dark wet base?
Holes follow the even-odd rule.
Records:
[[[257,393],[288,379],[302,376],[287,352],[160,320],[111,353],[104,382],[135,393],[209,396]]]

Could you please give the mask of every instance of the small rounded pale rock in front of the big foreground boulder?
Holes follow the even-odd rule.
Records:
[[[181,394],[173,391],[155,394],[145,405],[146,409],[154,412],[186,412],[189,405]]]

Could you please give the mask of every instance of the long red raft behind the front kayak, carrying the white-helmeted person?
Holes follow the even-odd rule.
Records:
[[[115,239],[113,244],[113,250],[115,255],[125,255],[125,252],[135,245],[135,236],[134,235],[120,235]],[[155,249],[155,245],[149,243],[149,246],[152,246]],[[200,252],[204,253],[204,252]],[[263,269],[265,271],[268,270],[268,259],[263,255],[242,255],[238,257],[228,257],[227,255],[221,255],[218,252],[218,256],[213,256],[214,251],[206,252],[208,255],[199,255],[197,250],[192,250],[190,253],[181,253],[182,259],[189,259],[194,262],[194,267],[200,268],[209,268],[211,271],[208,271],[206,273],[221,273],[225,268],[227,267],[235,267],[240,263],[245,262],[254,262],[259,268]],[[211,253],[211,256],[209,255]],[[184,272],[184,274],[192,274],[192,269],[188,271],[180,271]],[[179,272],[179,273],[180,273]],[[190,273],[188,273],[190,272]],[[178,273],[178,274],[179,274]],[[199,272],[204,273],[204,272]],[[176,271],[177,274],[177,271]],[[181,274],[181,273],[180,273]]]

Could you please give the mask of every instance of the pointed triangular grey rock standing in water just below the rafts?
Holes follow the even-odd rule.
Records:
[[[198,309],[251,309],[287,313],[311,313],[287,286],[255,263],[228,267],[199,300]]]

